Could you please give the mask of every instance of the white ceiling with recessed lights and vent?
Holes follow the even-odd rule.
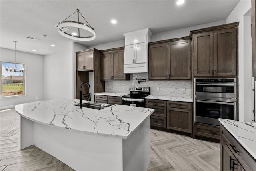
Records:
[[[80,0],[80,12],[94,28],[96,39],[78,43],[94,46],[123,40],[123,33],[144,28],[154,34],[225,20],[238,2],[186,0],[177,6],[175,0]],[[16,40],[16,50],[23,52],[47,55],[65,51],[72,40],[61,36],[54,25],[76,8],[77,0],[0,0],[0,47],[14,49]],[[117,24],[111,24],[112,19]]]

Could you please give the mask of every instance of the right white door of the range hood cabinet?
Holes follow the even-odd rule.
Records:
[[[146,56],[148,50],[148,43],[135,44],[135,57],[134,63],[146,63]]]

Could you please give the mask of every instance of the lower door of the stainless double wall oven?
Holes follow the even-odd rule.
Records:
[[[195,99],[195,122],[220,125],[219,118],[236,120],[236,101]]]

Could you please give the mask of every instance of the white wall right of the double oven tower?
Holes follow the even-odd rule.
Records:
[[[226,23],[239,22],[238,28],[238,106],[239,120],[252,119],[252,54],[250,20],[246,13],[251,8],[251,0],[241,0],[226,19]]]

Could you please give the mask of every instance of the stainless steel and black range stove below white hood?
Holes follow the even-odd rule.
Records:
[[[130,87],[130,94],[122,96],[122,105],[145,107],[145,97],[150,95],[149,87]]]

